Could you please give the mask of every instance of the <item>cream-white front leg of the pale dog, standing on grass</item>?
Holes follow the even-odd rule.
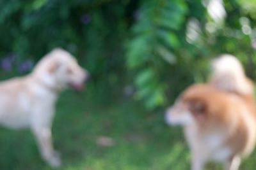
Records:
[[[61,159],[58,152],[53,149],[51,129],[48,127],[36,127],[36,129],[33,129],[33,133],[35,134],[42,159],[52,167],[59,167]]]

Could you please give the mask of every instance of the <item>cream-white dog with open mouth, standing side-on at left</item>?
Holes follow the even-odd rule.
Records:
[[[30,128],[50,166],[61,165],[52,146],[51,126],[58,93],[65,87],[83,88],[88,73],[70,53],[56,48],[43,57],[31,74],[0,83],[0,124]]]

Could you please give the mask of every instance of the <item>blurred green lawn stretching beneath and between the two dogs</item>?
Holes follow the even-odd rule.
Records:
[[[179,127],[163,113],[148,112],[131,99],[100,106],[90,96],[61,94],[53,125],[54,146],[66,170],[189,169],[189,152]],[[97,143],[101,136],[112,146]],[[31,132],[0,129],[0,169],[51,169],[41,159]],[[255,169],[256,155],[241,169]],[[221,169],[209,165],[207,169]]]

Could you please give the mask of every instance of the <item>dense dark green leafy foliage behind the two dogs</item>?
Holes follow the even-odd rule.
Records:
[[[132,85],[149,109],[205,81],[209,59],[220,53],[239,57],[255,79],[256,4],[223,1],[214,17],[210,7],[221,2],[0,0],[1,69],[26,73],[62,46],[92,73],[101,97]]]

